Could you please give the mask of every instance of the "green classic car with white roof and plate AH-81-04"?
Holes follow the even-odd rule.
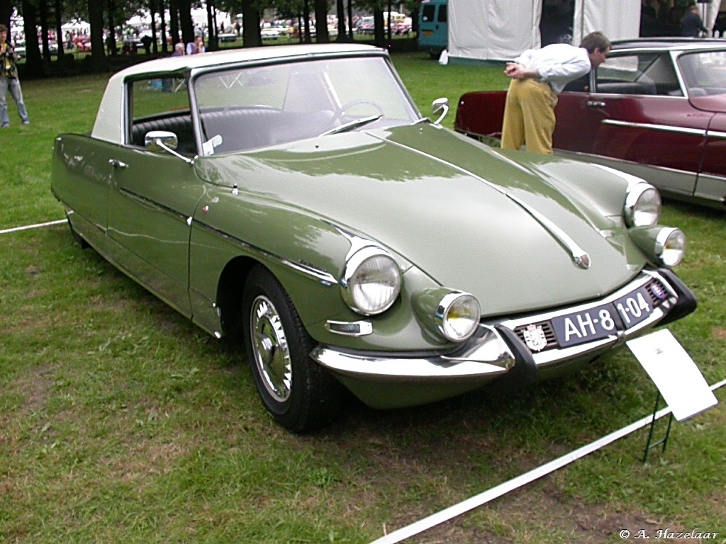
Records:
[[[152,60],[110,78],[90,134],[57,137],[52,191],[79,241],[242,343],[295,432],[343,387],[394,408],[524,384],[696,308],[653,186],[433,110],[370,46]]]

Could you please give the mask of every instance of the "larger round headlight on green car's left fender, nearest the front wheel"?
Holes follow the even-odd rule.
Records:
[[[401,292],[401,271],[380,247],[364,247],[348,259],[340,281],[343,300],[364,316],[391,308]]]

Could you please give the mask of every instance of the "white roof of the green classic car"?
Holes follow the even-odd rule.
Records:
[[[197,68],[221,67],[258,60],[314,58],[336,54],[365,54],[374,51],[381,52],[384,50],[356,44],[263,46],[248,49],[227,49],[196,55],[180,55],[179,57],[165,57],[141,62],[115,73],[108,80],[91,136],[114,144],[123,143],[123,128],[126,124],[124,119],[126,110],[123,107],[123,82],[129,76],[149,74],[155,78],[162,78],[165,73],[181,73]]]

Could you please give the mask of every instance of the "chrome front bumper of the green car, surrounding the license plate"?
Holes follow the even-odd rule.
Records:
[[[628,294],[643,292],[643,289],[650,292],[649,303],[653,304],[643,321],[628,327],[624,319],[616,318],[612,334],[578,345],[560,345],[553,320],[615,305]],[[393,408],[451,397],[503,376],[525,384],[550,369],[592,360],[653,326],[688,315],[695,308],[696,298],[674,273],[666,269],[650,270],[643,271],[616,292],[592,302],[484,321],[477,333],[453,352],[417,356],[319,346],[312,351],[311,358],[337,376],[364,403]],[[531,334],[533,330],[535,334]]]

